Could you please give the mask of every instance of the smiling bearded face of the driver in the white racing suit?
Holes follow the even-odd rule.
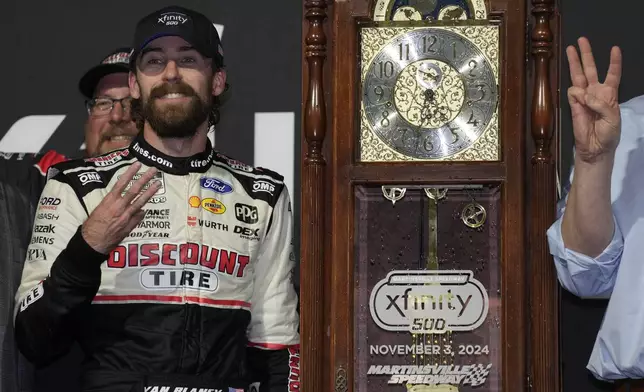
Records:
[[[223,91],[225,75],[213,75],[211,59],[179,37],[150,42],[130,74],[132,97],[160,137],[191,137],[207,119],[212,96]]]

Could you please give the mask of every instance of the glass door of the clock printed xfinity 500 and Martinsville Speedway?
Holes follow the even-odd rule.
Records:
[[[500,187],[356,186],[354,391],[500,391]]]

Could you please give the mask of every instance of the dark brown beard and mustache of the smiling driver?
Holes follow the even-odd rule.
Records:
[[[156,100],[166,94],[178,93],[190,98],[185,104],[167,104],[161,109]],[[143,119],[162,138],[187,138],[197,133],[197,127],[206,121],[210,112],[210,99],[204,102],[187,84],[164,84],[154,88],[142,102]]]

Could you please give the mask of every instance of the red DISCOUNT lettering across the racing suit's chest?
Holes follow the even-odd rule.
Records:
[[[218,249],[195,243],[187,244],[129,244],[119,245],[107,259],[109,268],[201,265],[218,272],[241,278],[250,261],[228,249]]]

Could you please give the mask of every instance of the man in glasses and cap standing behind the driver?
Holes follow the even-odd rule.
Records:
[[[125,147],[137,134],[130,116],[129,59],[130,49],[115,50],[79,81],[88,112],[84,130],[87,156]],[[47,169],[66,159],[53,150],[45,154],[0,153],[0,392],[34,387],[31,365],[14,344],[13,297],[22,262],[28,259],[26,250]],[[57,372],[50,373],[41,377],[47,380],[44,384]]]

